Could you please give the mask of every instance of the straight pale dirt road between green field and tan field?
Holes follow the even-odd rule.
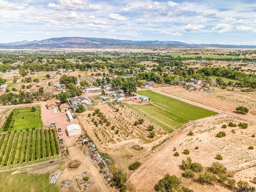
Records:
[[[162,91],[160,91],[158,89],[150,88],[150,90],[152,90],[154,92],[157,92],[157,93],[160,93],[162,95],[168,96],[168,97],[172,97],[174,99],[181,100],[183,102],[186,102],[186,103],[189,103],[189,104],[192,104],[192,105],[195,105],[195,106],[199,106],[199,107],[202,107],[202,108],[205,108],[205,109],[217,112],[217,113],[227,114],[227,115],[235,116],[235,117],[238,117],[238,118],[242,118],[244,120],[256,122],[256,118],[252,117],[252,116],[246,116],[244,114],[236,114],[236,113],[233,113],[233,112],[230,112],[230,111],[226,111],[226,110],[224,111],[224,110],[216,109],[214,107],[210,107],[210,106],[207,106],[207,105],[204,105],[204,104],[200,104],[200,103],[197,103],[197,102],[194,102],[194,101],[190,101],[188,99],[180,98],[180,97],[174,96],[172,94],[168,94],[168,93],[162,92]]]

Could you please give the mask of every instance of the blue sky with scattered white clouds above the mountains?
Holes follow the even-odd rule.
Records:
[[[256,1],[0,0],[0,43],[64,36],[256,45]]]

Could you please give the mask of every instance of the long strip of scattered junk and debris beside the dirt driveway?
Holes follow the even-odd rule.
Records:
[[[111,171],[108,168],[106,161],[108,163],[112,163],[112,161],[109,159],[106,159],[106,161],[103,160],[102,157],[100,156],[100,154],[98,153],[98,150],[95,147],[95,145],[92,145],[92,146],[86,148],[84,150],[84,152],[86,155],[91,157],[92,164],[94,166],[96,166],[97,168],[100,168],[100,173],[104,175],[106,180],[110,181],[111,180],[110,178],[112,177],[112,175],[111,175]]]

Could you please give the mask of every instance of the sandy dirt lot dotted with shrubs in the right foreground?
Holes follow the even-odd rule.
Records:
[[[221,154],[223,160],[219,162],[224,164],[228,171],[235,171],[234,179],[246,180],[250,185],[252,178],[255,177],[256,171],[250,168],[256,164],[255,151],[248,149],[249,146],[255,146],[256,123],[248,123],[247,129],[240,127],[221,128],[222,124],[228,122],[244,122],[237,118],[226,115],[212,116],[200,120],[196,120],[194,128],[188,128],[181,134],[176,134],[168,142],[160,146],[142,162],[136,171],[134,171],[129,180],[128,186],[130,191],[153,191],[154,185],[163,178],[167,173],[181,176],[183,170],[180,168],[181,161],[190,157],[193,162],[198,162],[204,167],[209,167],[212,162],[216,162],[216,154]],[[234,129],[235,133],[231,130]],[[194,136],[188,136],[188,132],[192,130]],[[225,137],[217,138],[216,134],[220,131],[226,133]],[[195,149],[198,146],[199,149]],[[180,156],[175,157],[173,148],[176,147]],[[189,155],[183,154],[183,150],[188,149]],[[243,169],[248,169],[246,171]],[[204,191],[230,191],[221,186],[202,186],[197,183],[191,183],[191,180],[184,180],[184,184],[197,192]]]

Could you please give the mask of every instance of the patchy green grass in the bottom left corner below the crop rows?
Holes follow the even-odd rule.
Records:
[[[59,192],[58,186],[49,184],[49,173],[28,174],[27,172],[11,174],[0,173],[0,191],[6,192]]]

